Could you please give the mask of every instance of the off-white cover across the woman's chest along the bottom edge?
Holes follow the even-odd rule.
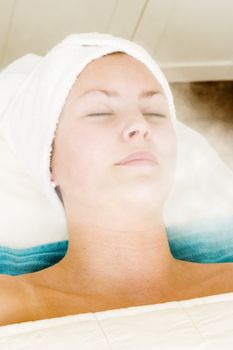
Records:
[[[0,327],[0,350],[230,350],[233,293]]]

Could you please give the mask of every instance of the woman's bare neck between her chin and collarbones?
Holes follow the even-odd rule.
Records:
[[[55,265],[59,290],[138,300],[168,288],[176,260],[161,220],[143,230],[123,229],[122,222],[121,228],[107,227],[99,217],[68,223],[68,250]]]

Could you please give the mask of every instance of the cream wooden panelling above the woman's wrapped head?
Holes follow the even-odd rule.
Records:
[[[0,0],[0,68],[71,33],[144,46],[171,82],[233,80],[232,0]]]

